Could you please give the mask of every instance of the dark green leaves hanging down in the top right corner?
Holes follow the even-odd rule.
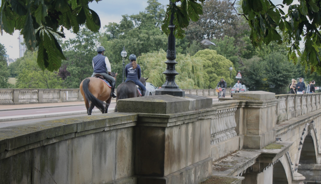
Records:
[[[281,7],[289,5],[285,14]],[[270,0],[243,0],[243,13],[248,17],[251,27],[250,39],[257,47],[262,42],[266,45],[271,41],[278,44],[283,42],[280,35],[284,35],[284,42],[289,45],[288,60],[297,64],[297,55],[301,56],[301,64],[305,71],[321,74],[321,61],[318,49],[321,48],[321,1],[299,0],[299,4],[293,0],[284,0],[283,5],[273,5]],[[277,29],[279,28],[279,29]],[[301,54],[299,42],[304,38],[305,46]]]

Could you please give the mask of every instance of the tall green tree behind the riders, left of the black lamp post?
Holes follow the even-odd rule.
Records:
[[[123,15],[120,23],[109,23],[106,32],[100,37],[100,43],[106,49],[112,71],[122,73],[120,52],[123,46],[128,53],[140,56],[142,53],[165,50],[167,36],[160,31],[160,18],[165,16],[163,6],[156,0],[148,1],[144,12],[134,15]],[[178,49],[183,51],[187,44],[185,40],[178,41]],[[127,58],[128,58],[127,56]],[[126,63],[127,63],[126,59]],[[117,80],[117,85],[121,80]]]

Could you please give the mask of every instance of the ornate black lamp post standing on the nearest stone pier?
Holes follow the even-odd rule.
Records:
[[[169,1],[169,4],[172,2]],[[165,62],[167,64],[166,71],[163,72],[163,74],[166,75],[166,81],[161,86],[162,88],[159,88],[156,90],[155,95],[172,95],[177,97],[185,97],[185,91],[182,89],[179,89],[178,85],[175,82],[175,76],[178,75],[178,72],[175,70],[175,65],[177,62],[176,59],[176,50],[175,50],[175,36],[173,34],[175,25],[173,24],[174,20],[174,14],[171,14],[170,16],[170,22],[169,22],[169,30],[170,34],[168,36],[168,46],[167,46],[167,61]]]

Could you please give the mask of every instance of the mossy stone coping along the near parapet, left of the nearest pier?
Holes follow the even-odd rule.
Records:
[[[137,115],[130,113],[108,113],[72,118],[63,118],[0,128],[0,153],[48,138],[90,131],[105,130],[106,127],[136,122]]]

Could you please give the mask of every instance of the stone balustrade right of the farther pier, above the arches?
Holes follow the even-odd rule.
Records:
[[[320,109],[320,95],[321,93],[275,95],[279,100],[275,108],[276,124]]]

